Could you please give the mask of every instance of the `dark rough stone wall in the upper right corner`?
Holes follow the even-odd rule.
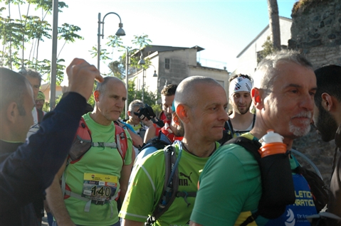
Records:
[[[291,14],[288,47],[299,49],[315,68],[341,65],[341,1],[312,0]]]

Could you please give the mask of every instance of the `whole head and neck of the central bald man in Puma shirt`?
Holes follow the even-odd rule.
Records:
[[[224,124],[229,119],[224,88],[210,77],[187,77],[177,87],[174,100],[177,116],[184,126],[182,141],[195,143],[197,150],[203,149],[196,156],[208,156],[214,142],[222,138]]]

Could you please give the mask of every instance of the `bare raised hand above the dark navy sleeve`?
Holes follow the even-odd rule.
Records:
[[[66,68],[68,74],[68,92],[78,92],[89,99],[93,93],[93,80],[103,82],[103,77],[94,65],[83,59],[75,58]]]

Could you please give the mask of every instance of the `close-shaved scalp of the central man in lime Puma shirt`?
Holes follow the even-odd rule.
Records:
[[[214,87],[220,87],[224,89],[216,80],[212,79],[211,77],[187,77],[180,82],[177,87],[177,92],[175,92],[175,109],[177,109],[177,105],[179,104],[186,104],[189,107],[195,107],[201,97],[201,92],[209,92],[209,90],[198,89],[199,85],[207,85],[206,87],[210,86],[209,89],[214,89]]]

